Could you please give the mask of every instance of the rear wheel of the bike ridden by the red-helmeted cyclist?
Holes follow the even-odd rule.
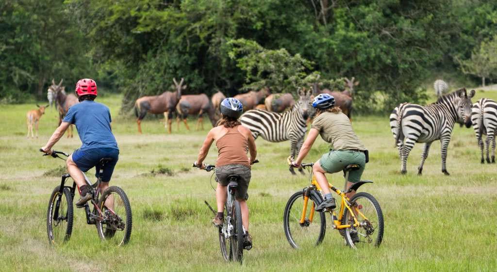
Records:
[[[131,237],[133,218],[126,193],[117,186],[111,186],[103,192],[98,207],[105,216],[104,220],[96,222],[100,238],[116,246],[127,244]]]

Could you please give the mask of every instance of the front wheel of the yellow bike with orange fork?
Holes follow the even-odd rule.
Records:
[[[293,248],[317,246],[325,238],[326,217],[324,212],[314,210],[317,203],[319,200],[313,195],[305,198],[303,191],[293,194],[288,200],[283,213],[283,228]]]

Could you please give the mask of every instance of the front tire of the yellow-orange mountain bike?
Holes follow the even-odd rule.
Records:
[[[295,207],[295,210],[296,210],[295,214],[298,214],[298,216],[297,215],[292,216],[291,215],[292,208],[294,208],[294,205],[299,200],[302,201],[302,204],[301,205],[299,204]],[[316,197],[312,194],[310,195],[309,200],[314,202],[314,203],[320,203],[320,200],[316,199]],[[304,224],[304,225],[300,224],[299,221],[300,221],[300,216],[302,214],[303,201],[304,201],[304,192],[303,191],[299,191],[299,192],[293,194],[290,197],[290,199],[288,200],[288,202],[285,206],[285,211],[283,212],[283,229],[285,230],[286,239],[290,243],[290,246],[292,246],[295,249],[299,249],[301,247],[304,247],[308,243],[312,244],[313,246],[318,246],[319,244],[321,244],[321,242],[323,242],[323,239],[325,238],[325,234],[326,234],[326,215],[324,212],[315,212],[315,218],[316,218],[316,215],[319,215],[319,220],[320,220],[320,222],[318,222],[317,224],[312,224],[313,222],[308,222],[308,221],[306,221],[306,224]],[[308,204],[308,210],[311,207],[312,207],[312,205]],[[309,228],[311,226],[311,224],[313,225],[312,229]],[[296,236],[298,233],[294,232],[292,234],[291,225],[295,225],[296,230],[302,230],[302,232],[310,232],[310,231],[316,232],[316,235],[312,234],[312,236],[316,236],[316,238],[310,237],[307,239],[300,239],[300,238],[297,239]],[[300,227],[300,229],[298,227]]]

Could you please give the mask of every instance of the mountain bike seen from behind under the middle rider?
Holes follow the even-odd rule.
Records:
[[[253,163],[259,162],[255,160]],[[197,167],[195,163],[192,165]],[[214,165],[205,164],[204,169],[207,172],[215,171],[216,167]],[[245,231],[242,223],[242,210],[240,208],[240,203],[235,199],[235,194],[238,188],[238,181],[240,176],[230,175],[228,176],[228,198],[224,205],[224,221],[223,225],[218,228],[219,235],[219,245],[221,249],[221,254],[223,258],[227,261],[238,261],[242,263],[245,248]],[[216,215],[217,211],[214,210],[207,201],[204,203],[209,207],[209,209]]]

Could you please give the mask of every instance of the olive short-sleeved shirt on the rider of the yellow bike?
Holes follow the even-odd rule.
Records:
[[[317,129],[321,137],[331,143],[331,148],[334,150],[366,150],[366,147],[352,130],[350,120],[341,112],[320,114],[314,119],[312,128]]]

